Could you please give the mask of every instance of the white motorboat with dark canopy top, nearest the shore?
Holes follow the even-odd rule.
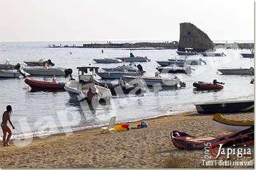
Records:
[[[65,90],[70,95],[71,99],[83,101],[88,99],[87,98],[87,92],[90,87],[93,86],[94,73],[84,75],[84,73],[87,73],[87,70],[90,71],[98,70],[98,67],[77,67],[78,69],[78,80],[74,80],[73,78],[68,78],[65,83]],[[93,97],[91,102],[100,102],[104,100],[105,102],[107,100],[111,100],[111,91],[109,88],[101,87],[99,85],[94,85],[95,88],[97,88],[97,94]]]

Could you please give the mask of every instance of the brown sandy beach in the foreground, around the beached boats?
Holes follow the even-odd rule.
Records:
[[[203,151],[177,150],[173,146],[170,133],[179,130],[194,136],[211,137],[226,134],[227,132],[213,126],[212,116],[186,112],[147,119],[148,127],[138,130],[101,133],[100,128],[95,128],[77,131],[69,136],[62,134],[34,138],[32,143],[25,147],[0,147],[0,167],[159,168],[186,167],[185,162],[190,167],[199,167],[204,159]],[[239,120],[254,119],[253,112],[224,116]],[[253,155],[243,157],[246,161],[252,159]]]

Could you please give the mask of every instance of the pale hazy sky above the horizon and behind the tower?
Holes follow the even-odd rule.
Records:
[[[0,0],[0,42],[179,40],[190,22],[212,40],[253,40],[253,0]]]

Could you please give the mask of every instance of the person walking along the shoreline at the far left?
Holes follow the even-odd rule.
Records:
[[[7,122],[9,121],[9,123],[11,124],[12,128],[14,128],[13,124],[11,123],[11,112],[12,112],[12,109],[11,109],[11,106],[8,105],[6,107],[6,111],[3,113],[3,121],[1,123],[1,127],[2,127],[2,130],[3,130],[3,146],[6,147],[6,146],[10,146],[9,144],[9,140],[11,138],[11,130],[10,128],[7,126]],[[8,133],[8,137],[6,138],[6,134]]]

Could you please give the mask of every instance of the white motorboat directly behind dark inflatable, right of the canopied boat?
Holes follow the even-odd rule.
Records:
[[[143,72],[140,71],[102,71],[96,73],[101,78],[105,79],[119,79],[122,76],[140,76]]]

